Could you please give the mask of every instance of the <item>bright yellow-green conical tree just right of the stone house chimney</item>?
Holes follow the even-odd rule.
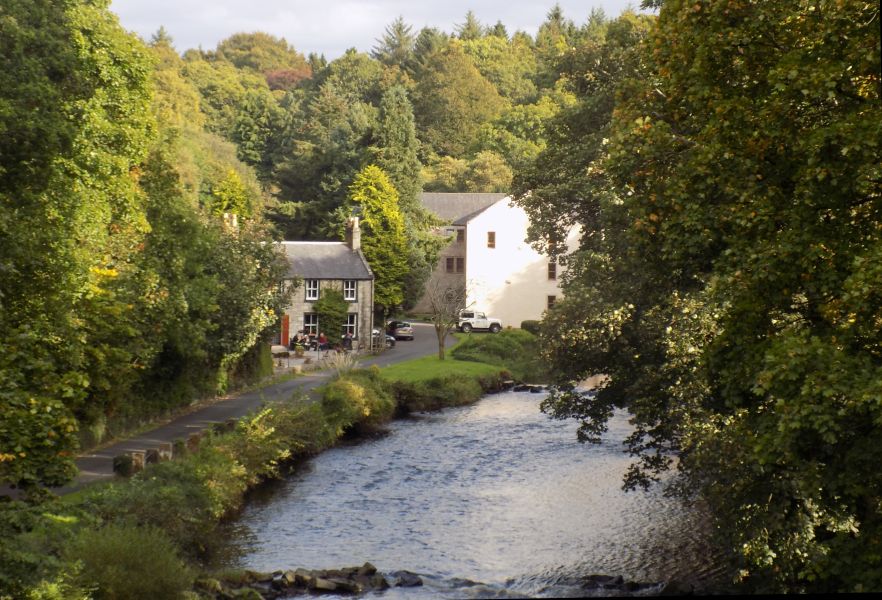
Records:
[[[374,272],[374,303],[385,316],[404,300],[407,273],[407,238],[398,192],[389,177],[375,165],[356,175],[349,187],[349,208],[361,215],[362,250]]]

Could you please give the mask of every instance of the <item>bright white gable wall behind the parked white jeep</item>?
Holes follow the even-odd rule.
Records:
[[[469,221],[466,233],[466,285],[470,308],[502,319],[503,326],[520,327],[521,321],[541,319],[548,297],[560,298],[562,268],[549,280],[547,256],[525,241],[529,218],[504,198]],[[495,248],[488,248],[488,233],[495,233]],[[568,243],[576,247],[577,232]]]

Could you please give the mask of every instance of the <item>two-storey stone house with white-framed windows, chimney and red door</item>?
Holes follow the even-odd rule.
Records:
[[[361,251],[358,218],[349,219],[345,242],[280,242],[280,245],[288,260],[288,273],[282,285],[291,286],[295,278],[301,283],[282,315],[274,342],[287,345],[299,330],[315,335],[324,331],[314,304],[324,290],[337,289],[349,302],[344,330],[352,334],[358,346],[370,346],[374,327],[374,274]],[[343,335],[343,331],[324,333],[332,341]]]

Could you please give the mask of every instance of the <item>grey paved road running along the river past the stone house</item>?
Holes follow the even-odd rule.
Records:
[[[378,365],[383,367],[437,352],[438,341],[434,328],[425,323],[414,323],[413,325],[413,341],[399,341],[394,348],[390,348],[377,356],[363,359],[360,361],[360,364],[363,366]],[[448,336],[447,345],[452,344],[453,341],[453,337]],[[265,403],[289,400],[295,392],[305,393],[315,389],[324,383],[331,373],[332,371],[327,369],[323,371],[310,371],[295,379],[270,385],[258,391],[221,398],[147,433],[83,454],[76,461],[77,467],[80,470],[79,476],[70,485],[59,488],[56,491],[64,494],[94,481],[110,479],[114,476],[114,456],[135,450],[157,448],[162,442],[187,439],[187,436],[191,433],[202,431],[211,427],[214,423],[222,423],[228,419],[243,417],[254,412]]]

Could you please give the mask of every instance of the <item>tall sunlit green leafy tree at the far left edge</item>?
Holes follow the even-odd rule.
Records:
[[[23,487],[73,475],[74,417],[133,372],[149,66],[106,4],[12,0],[0,19],[0,480]]]

